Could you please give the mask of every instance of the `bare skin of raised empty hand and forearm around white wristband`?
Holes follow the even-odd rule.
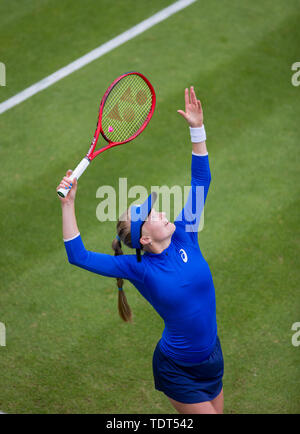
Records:
[[[194,87],[191,86],[190,90],[185,89],[185,111],[177,110],[192,128],[201,128],[203,125],[203,110],[201,102],[196,97]],[[195,154],[206,154],[206,142],[193,143],[193,152]]]

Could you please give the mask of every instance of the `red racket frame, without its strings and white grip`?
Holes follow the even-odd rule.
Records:
[[[124,77],[127,77],[129,75],[138,75],[139,77],[141,77],[148,85],[150,91],[151,91],[151,95],[152,95],[152,106],[151,106],[151,110],[148,113],[147,119],[145,120],[145,122],[143,123],[143,125],[138,129],[138,131],[132,135],[131,137],[129,137],[129,139],[124,140],[123,142],[112,142],[111,140],[109,140],[108,137],[106,137],[103,128],[102,128],[102,113],[103,113],[103,107],[105,104],[105,101],[108,98],[108,95],[110,94],[110,92],[112,91],[112,89],[116,86],[116,84],[122,80]],[[120,75],[120,77],[116,78],[116,80],[114,80],[112,82],[112,84],[109,86],[109,88],[107,89],[107,91],[105,92],[101,103],[100,103],[100,107],[99,107],[99,116],[98,116],[98,122],[97,122],[97,128],[94,134],[94,138],[92,140],[90,149],[88,151],[88,153],[86,154],[86,157],[92,161],[95,157],[97,157],[97,155],[101,154],[102,152],[106,151],[107,149],[113,148],[114,146],[118,146],[118,145],[122,145],[124,143],[130,142],[131,140],[135,139],[139,134],[141,134],[141,132],[146,128],[146,126],[148,125],[153,113],[154,113],[154,109],[155,109],[155,105],[156,105],[156,95],[155,95],[155,91],[154,88],[152,86],[152,84],[150,83],[150,81],[140,72],[136,72],[136,71],[131,71],[131,72],[126,72],[122,75]],[[102,137],[108,142],[107,146],[104,146],[101,149],[98,149],[96,152],[95,148],[98,142],[98,138],[99,135],[102,135]]]

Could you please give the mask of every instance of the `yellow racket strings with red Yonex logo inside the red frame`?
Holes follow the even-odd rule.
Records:
[[[102,114],[102,128],[112,142],[134,136],[143,126],[152,107],[152,93],[139,75],[122,78],[109,93]]]

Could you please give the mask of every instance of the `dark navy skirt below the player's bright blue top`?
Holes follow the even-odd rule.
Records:
[[[159,344],[160,341],[152,362],[155,389],[186,404],[212,401],[219,395],[223,387],[224,360],[218,337],[210,356],[192,366],[184,366],[166,356]]]

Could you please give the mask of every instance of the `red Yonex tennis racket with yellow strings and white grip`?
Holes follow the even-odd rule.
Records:
[[[79,178],[97,155],[135,139],[146,128],[153,115],[156,96],[149,80],[139,72],[122,74],[109,86],[99,108],[97,128],[90,149],[69,177]],[[95,150],[99,135],[108,145]],[[69,189],[57,194],[66,197]]]

